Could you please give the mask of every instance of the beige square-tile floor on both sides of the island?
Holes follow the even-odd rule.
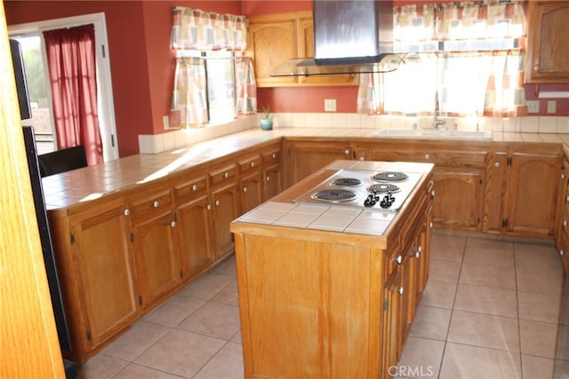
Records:
[[[393,374],[552,376],[563,281],[553,246],[434,234],[430,262],[429,284]],[[79,371],[83,379],[240,378],[241,353],[231,257]]]

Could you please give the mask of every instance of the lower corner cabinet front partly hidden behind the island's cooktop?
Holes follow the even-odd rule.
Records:
[[[293,186],[334,161],[352,159],[349,142],[288,139],[284,144],[284,152],[287,154],[286,187]]]

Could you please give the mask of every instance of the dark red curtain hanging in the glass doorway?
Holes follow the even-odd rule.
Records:
[[[88,164],[101,163],[94,27],[49,30],[44,39],[58,148],[83,145]]]

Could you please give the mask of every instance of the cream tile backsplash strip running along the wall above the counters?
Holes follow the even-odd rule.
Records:
[[[172,130],[161,134],[140,135],[140,154],[156,154],[222,137],[239,131],[260,128],[262,114],[251,114],[233,122],[204,128]],[[432,128],[433,117],[405,117],[392,115],[341,113],[282,113],[273,114],[273,128],[362,128],[413,129]],[[569,116],[526,117],[465,117],[443,118],[445,127],[457,130],[492,130],[504,133],[558,133],[569,134]]]

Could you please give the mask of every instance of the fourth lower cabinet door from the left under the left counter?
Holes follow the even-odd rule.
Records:
[[[236,185],[229,185],[212,192],[213,235],[215,239],[214,261],[227,257],[234,251],[233,233],[229,224],[236,219],[238,197]]]

